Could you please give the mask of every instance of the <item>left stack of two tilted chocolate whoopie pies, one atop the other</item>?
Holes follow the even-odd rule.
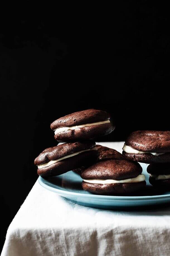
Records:
[[[98,159],[95,136],[106,135],[114,130],[110,115],[101,110],[84,110],[55,120],[51,124],[54,138],[68,141],[45,149],[35,159],[38,175],[49,177],[79,170],[92,165]]]

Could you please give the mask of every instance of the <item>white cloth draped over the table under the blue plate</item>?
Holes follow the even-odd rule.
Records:
[[[121,152],[123,143],[100,143]],[[38,181],[10,224],[2,256],[169,256],[170,208],[109,211],[80,206]]]

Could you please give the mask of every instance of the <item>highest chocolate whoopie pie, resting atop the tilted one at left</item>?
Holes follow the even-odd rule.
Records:
[[[51,124],[58,141],[93,139],[106,135],[115,128],[105,111],[88,109],[55,120]]]

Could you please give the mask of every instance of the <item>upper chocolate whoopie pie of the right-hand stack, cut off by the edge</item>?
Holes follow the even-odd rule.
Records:
[[[170,131],[132,132],[123,146],[123,157],[142,162],[170,162]]]

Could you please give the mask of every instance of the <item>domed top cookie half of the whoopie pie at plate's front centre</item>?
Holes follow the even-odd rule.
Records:
[[[111,159],[98,162],[81,173],[82,179],[125,180],[135,178],[142,173],[138,162],[126,159]]]

